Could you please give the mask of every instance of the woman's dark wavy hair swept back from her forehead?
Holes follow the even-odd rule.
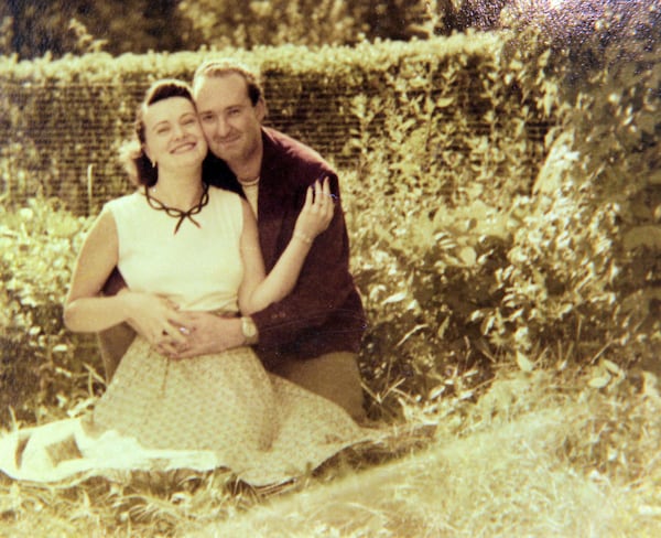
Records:
[[[171,97],[184,97],[195,106],[193,92],[185,82],[176,78],[156,80],[148,88],[142,103],[138,106],[134,121],[136,136],[133,140],[122,144],[119,150],[120,161],[131,181],[137,185],[153,186],[159,179],[158,164],[152,165],[152,162],[144,152],[144,114],[147,112],[147,107]]]

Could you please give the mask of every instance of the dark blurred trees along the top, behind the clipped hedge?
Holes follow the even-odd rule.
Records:
[[[33,0],[0,4],[0,54],[355,45],[494,29],[506,0]]]

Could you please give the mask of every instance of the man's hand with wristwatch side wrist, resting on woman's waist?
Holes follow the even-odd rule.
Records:
[[[182,312],[188,330],[184,344],[174,344],[170,358],[182,359],[220,353],[243,345],[245,337],[239,318],[221,318],[208,312]]]

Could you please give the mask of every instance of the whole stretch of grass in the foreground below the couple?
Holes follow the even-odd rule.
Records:
[[[594,388],[590,376],[502,370],[477,401],[410,409],[411,423],[437,422],[424,448],[394,439],[279,493],[221,473],[69,488],[4,480],[0,536],[659,536],[655,377]]]

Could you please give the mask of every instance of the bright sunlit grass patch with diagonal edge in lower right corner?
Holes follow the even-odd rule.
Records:
[[[559,386],[554,376],[498,379],[466,409],[460,429],[441,428],[424,452],[273,499],[195,536],[655,536],[659,396],[607,394],[585,376]],[[614,416],[618,401],[626,412]],[[637,437],[626,423],[641,417]],[[630,435],[620,439],[620,458],[637,465],[609,462],[617,449],[595,435],[595,423],[614,419]]]

